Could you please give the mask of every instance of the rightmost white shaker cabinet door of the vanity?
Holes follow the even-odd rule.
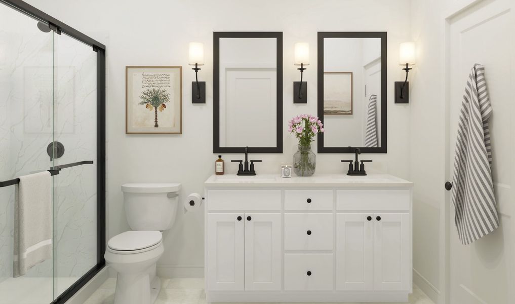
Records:
[[[374,213],[374,290],[409,290],[408,213]]]

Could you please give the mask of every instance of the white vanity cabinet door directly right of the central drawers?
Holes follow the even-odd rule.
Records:
[[[372,213],[336,215],[336,289],[372,290]]]

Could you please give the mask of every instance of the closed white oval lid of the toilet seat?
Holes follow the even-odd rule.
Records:
[[[112,237],[107,246],[113,250],[133,251],[152,247],[161,240],[160,231],[125,231]]]

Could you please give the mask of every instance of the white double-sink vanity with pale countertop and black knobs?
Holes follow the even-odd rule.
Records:
[[[208,302],[407,301],[410,182],[320,174],[204,185]]]

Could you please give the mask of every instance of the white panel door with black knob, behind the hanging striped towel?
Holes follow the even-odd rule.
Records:
[[[450,303],[515,303],[513,228],[515,197],[515,1],[479,1],[448,20],[448,180],[454,167],[459,111],[472,66],[485,66],[490,117],[492,178],[500,227],[474,243],[459,242],[448,192]],[[442,187],[442,190],[443,187]]]

